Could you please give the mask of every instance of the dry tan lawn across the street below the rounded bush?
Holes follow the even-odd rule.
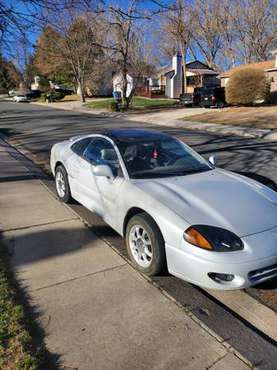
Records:
[[[228,107],[187,116],[184,120],[277,130],[277,105],[267,107]]]

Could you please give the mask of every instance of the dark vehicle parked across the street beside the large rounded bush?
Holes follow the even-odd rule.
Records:
[[[201,107],[223,108],[226,105],[224,87],[201,88],[199,95]]]

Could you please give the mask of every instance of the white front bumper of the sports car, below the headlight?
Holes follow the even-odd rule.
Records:
[[[176,249],[166,244],[169,272],[195,285],[218,290],[244,289],[277,277],[277,253],[270,257],[240,262],[237,256],[241,252],[233,252],[237,254],[236,258],[230,255],[232,252],[208,252],[214,256],[215,253],[217,254],[215,261],[201,256],[201,251],[197,252],[198,255],[189,250],[186,251],[185,248]],[[218,257],[221,258],[221,261],[218,260]],[[211,273],[230,274],[234,277],[231,281],[215,281],[210,277]]]

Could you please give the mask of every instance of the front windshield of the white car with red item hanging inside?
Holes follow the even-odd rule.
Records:
[[[204,158],[174,138],[117,144],[133,179],[185,176],[212,169]]]

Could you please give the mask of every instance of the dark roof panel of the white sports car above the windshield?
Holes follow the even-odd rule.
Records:
[[[126,141],[156,141],[172,139],[170,135],[163,132],[141,129],[141,128],[118,128],[106,130],[103,135],[109,137],[115,142],[126,142]]]

